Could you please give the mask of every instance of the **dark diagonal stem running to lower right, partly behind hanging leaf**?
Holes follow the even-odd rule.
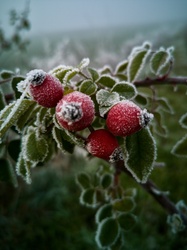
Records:
[[[131,173],[125,168],[123,161],[116,162],[115,168],[133,178]],[[187,226],[187,217],[178,211],[175,204],[166,196],[164,192],[159,190],[159,188],[151,180],[148,180],[143,184],[140,183],[140,186],[143,187],[144,190],[147,191],[169,214],[179,214],[184,225]]]

